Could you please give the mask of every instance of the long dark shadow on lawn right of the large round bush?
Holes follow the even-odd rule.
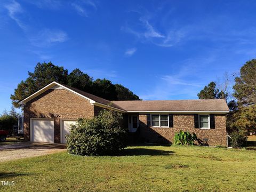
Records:
[[[157,155],[171,155],[173,153],[174,153],[173,151],[166,151],[166,150],[134,148],[134,149],[124,149],[121,156],[137,156],[137,155],[157,156]]]

